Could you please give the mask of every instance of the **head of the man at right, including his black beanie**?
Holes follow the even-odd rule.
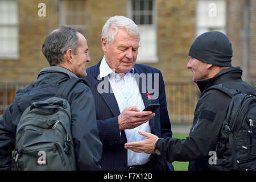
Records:
[[[211,78],[222,69],[231,67],[233,49],[225,34],[212,31],[198,36],[191,45],[188,55],[191,59],[187,68],[193,72],[192,80],[196,82]]]

